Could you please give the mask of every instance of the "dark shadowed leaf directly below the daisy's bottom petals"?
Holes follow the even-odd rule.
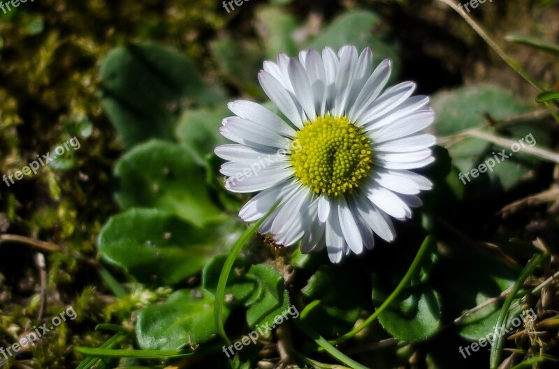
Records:
[[[339,336],[349,331],[359,318],[366,294],[361,275],[351,273],[347,267],[340,269],[330,265],[321,266],[301,293],[307,302],[320,300],[305,322],[324,336]]]

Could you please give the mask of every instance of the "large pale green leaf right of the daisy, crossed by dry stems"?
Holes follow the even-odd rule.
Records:
[[[495,86],[465,86],[460,89],[442,91],[433,96],[435,130],[440,135],[454,135],[461,131],[480,128],[486,122],[486,114],[499,120],[528,112],[510,93]],[[525,140],[527,135],[538,144],[546,145],[549,139],[542,128],[528,123],[507,127],[507,134],[484,128],[491,135],[501,135],[510,140]],[[529,138],[529,137],[528,137]],[[528,179],[538,161],[525,154],[513,153],[511,148],[501,148],[477,137],[453,137],[447,144],[453,165],[458,168],[460,184],[466,190],[477,193],[480,188],[491,195],[496,190],[510,190],[524,179]],[[500,160],[500,152],[510,156]],[[480,166],[481,165],[481,166]],[[472,174],[472,170],[477,172]]]

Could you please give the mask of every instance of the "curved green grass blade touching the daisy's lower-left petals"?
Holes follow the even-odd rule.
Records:
[[[248,243],[248,241],[254,235],[254,232],[256,232],[259,229],[262,223],[264,223],[264,221],[268,218],[268,216],[270,216],[270,214],[275,210],[278,204],[279,202],[277,202],[272,207],[272,209],[268,211],[266,216],[263,216],[261,219],[259,219],[256,223],[254,223],[254,225],[249,227],[249,229],[247,229],[245,233],[242,234],[242,236],[239,237],[239,239],[233,245],[233,248],[231,248],[229,255],[227,255],[227,259],[225,260],[222,273],[219,275],[219,280],[217,282],[217,289],[215,292],[215,309],[214,309],[215,326],[217,327],[219,336],[222,336],[225,342],[227,342],[227,345],[231,345],[231,340],[229,340],[229,338],[227,337],[227,333],[225,333],[223,309],[225,304],[225,288],[227,285],[227,279],[229,278],[229,273],[231,273],[231,269],[233,268],[233,264],[235,263],[235,259],[238,257],[240,250],[242,250],[245,244]]]

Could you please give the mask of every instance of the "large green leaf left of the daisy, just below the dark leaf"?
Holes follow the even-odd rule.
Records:
[[[115,166],[117,202],[174,213],[194,225],[222,219],[210,198],[205,174],[187,149],[152,140],[134,147]]]

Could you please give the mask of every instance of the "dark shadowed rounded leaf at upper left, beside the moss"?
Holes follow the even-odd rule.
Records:
[[[111,50],[99,75],[103,110],[127,147],[152,137],[172,140],[177,109],[205,95],[189,61],[154,43]]]

